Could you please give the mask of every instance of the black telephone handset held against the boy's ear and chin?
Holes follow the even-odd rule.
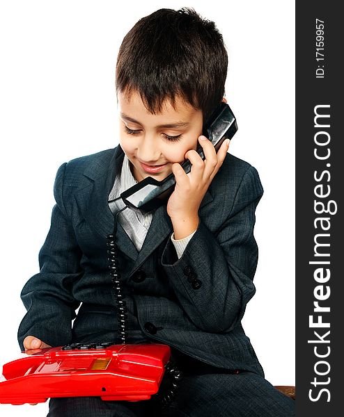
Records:
[[[235,116],[228,104],[224,102],[219,104],[218,108],[210,116],[208,123],[203,126],[203,135],[212,142],[216,152],[226,138],[233,138],[236,131],[237,122]],[[201,145],[198,144],[196,152],[200,154],[202,159],[205,159]],[[189,160],[183,162],[181,166],[186,173],[190,172],[191,163]],[[166,199],[172,194],[174,187],[175,177],[173,173],[169,174],[162,181],[157,181],[153,177],[146,177],[121,193],[118,198],[123,199],[125,205],[132,208],[132,210],[148,213],[166,203]]]

